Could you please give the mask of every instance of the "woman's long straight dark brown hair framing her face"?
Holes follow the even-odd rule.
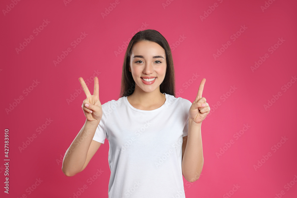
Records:
[[[158,31],[147,29],[136,33],[127,47],[122,70],[120,98],[131,95],[135,90],[135,81],[133,80],[132,73],[129,71],[129,64],[132,47],[139,41],[155,42],[165,50],[166,73],[163,82],[160,84],[160,92],[170,94],[175,97],[175,76],[170,46],[168,45],[167,40]]]

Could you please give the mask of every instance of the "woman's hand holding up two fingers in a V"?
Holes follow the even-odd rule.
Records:
[[[82,77],[78,78],[83,91],[85,92],[87,98],[83,101],[81,107],[83,108],[83,113],[85,114],[88,121],[99,121],[102,118],[102,107],[99,101],[99,81],[98,77],[94,78],[94,93],[91,95],[85,81]]]

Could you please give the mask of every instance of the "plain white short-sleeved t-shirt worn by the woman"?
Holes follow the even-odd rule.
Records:
[[[192,102],[163,94],[165,103],[149,111],[134,108],[127,96],[102,104],[93,140],[109,141],[109,198],[185,197],[182,137]]]

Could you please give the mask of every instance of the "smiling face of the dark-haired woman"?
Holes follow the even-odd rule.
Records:
[[[145,92],[154,91],[165,78],[165,50],[151,41],[135,43],[130,56],[129,71],[135,81],[135,89],[140,88]],[[146,80],[143,80],[144,78]]]

